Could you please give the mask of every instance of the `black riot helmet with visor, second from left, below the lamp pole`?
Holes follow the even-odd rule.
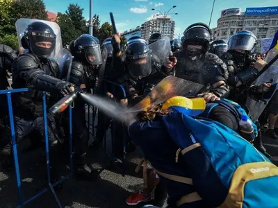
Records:
[[[92,35],[83,34],[74,41],[74,55],[89,64],[102,64],[99,44]]]

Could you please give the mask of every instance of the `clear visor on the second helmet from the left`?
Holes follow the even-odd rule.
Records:
[[[100,45],[92,45],[92,46],[87,46],[84,49],[85,53],[85,58],[86,60],[93,65],[99,65],[102,64],[102,55],[101,55],[101,50],[100,50]]]

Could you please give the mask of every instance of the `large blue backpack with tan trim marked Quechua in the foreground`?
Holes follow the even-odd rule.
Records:
[[[278,168],[250,142],[221,123],[180,112],[163,123],[206,207],[278,207]]]

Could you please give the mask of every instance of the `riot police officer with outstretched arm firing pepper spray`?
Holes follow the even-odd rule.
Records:
[[[17,141],[24,139],[31,132],[40,132],[41,138],[44,132],[42,117],[41,90],[51,94],[68,94],[74,90],[73,85],[58,76],[58,63],[51,58],[56,48],[56,34],[53,28],[41,21],[33,21],[28,24],[24,36],[21,39],[22,46],[29,52],[19,56],[17,66],[13,70],[14,89],[34,87],[35,91],[15,94],[14,114],[15,132]],[[47,115],[49,125],[49,145],[58,143],[54,118]],[[9,132],[9,131],[7,131]],[[6,135],[6,145],[0,151],[1,155],[10,155],[10,135]]]

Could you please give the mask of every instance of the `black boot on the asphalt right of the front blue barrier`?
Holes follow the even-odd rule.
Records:
[[[76,180],[95,181],[99,178],[99,172],[85,164],[86,160],[85,154],[76,158],[74,164],[74,175]]]

